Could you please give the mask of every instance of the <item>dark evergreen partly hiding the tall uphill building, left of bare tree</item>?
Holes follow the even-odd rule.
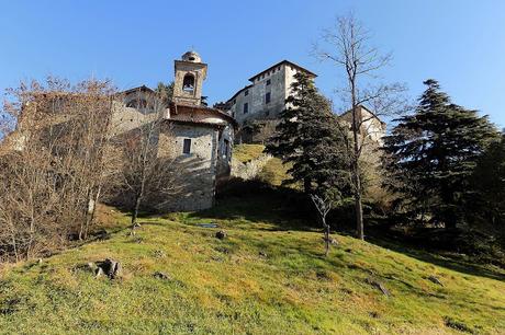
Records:
[[[306,194],[346,189],[349,160],[343,134],[347,131],[339,131],[329,102],[317,92],[313,81],[303,72],[294,78],[292,93],[285,101],[288,108],[281,113],[281,123],[266,151],[292,164],[292,178],[287,183],[303,183]]]

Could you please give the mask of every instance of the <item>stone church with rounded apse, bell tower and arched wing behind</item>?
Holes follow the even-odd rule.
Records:
[[[157,136],[159,158],[177,164],[180,189],[165,201],[164,210],[190,211],[213,206],[216,184],[231,173],[232,143],[237,127],[225,112],[202,104],[207,65],[195,51],[175,60],[172,101],[148,111],[148,101],[159,99],[155,91],[139,86],[122,92],[114,124],[131,131],[148,120],[161,118]]]

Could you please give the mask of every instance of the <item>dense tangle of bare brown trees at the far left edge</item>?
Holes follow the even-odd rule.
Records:
[[[4,113],[15,130],[1,143],[0,253],[33,257],[86,239],[96,204],[116,174],[109,141],[113,89],[108,82],[10,90]]]

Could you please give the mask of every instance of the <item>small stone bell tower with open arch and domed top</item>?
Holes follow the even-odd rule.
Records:
[[[173,84],[173,102],[176,104],[200,106],[202,84],[206,78],[206,63],[195,51],[182,55],[175,61],[176,79]]]

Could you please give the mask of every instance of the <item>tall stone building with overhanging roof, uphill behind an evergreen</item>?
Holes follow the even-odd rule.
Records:
[[[237,142],[262,141],[270,135],[285,108],[293,76],[299,71],[311,78],[317,77],[299,65],[282,60],[249,78],[250,84],[236,92],[225,104],[220,104],[238,122]]]

